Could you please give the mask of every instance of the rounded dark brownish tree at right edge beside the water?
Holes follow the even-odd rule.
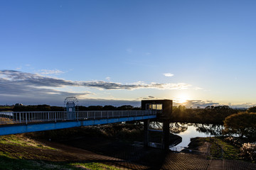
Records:
[[[225,134],[238,134],[240,137],[256,139],[256,113],[241,112],[224,120]]]

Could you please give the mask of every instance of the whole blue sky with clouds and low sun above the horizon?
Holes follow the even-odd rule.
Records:
[[[0,1],[0,105],[256,103],[256,1]]]

